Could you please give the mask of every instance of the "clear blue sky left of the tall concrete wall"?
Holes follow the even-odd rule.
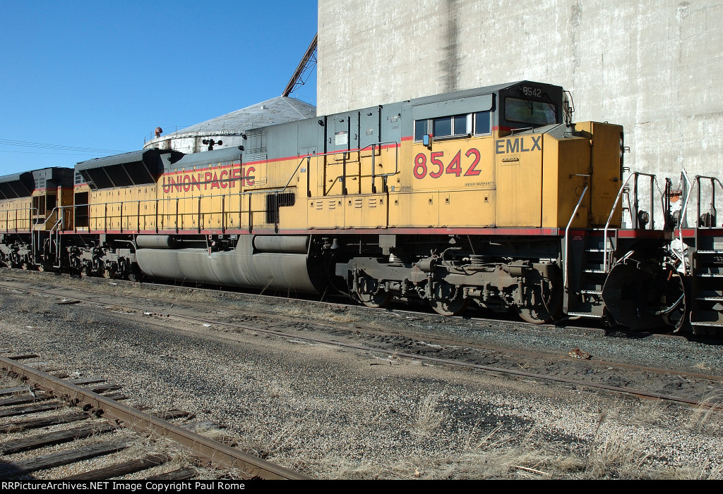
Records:
[[[316,31],[309,0],[0,0],[0,175],[280,96]],[[315,76],[292,96],[316,104]]]

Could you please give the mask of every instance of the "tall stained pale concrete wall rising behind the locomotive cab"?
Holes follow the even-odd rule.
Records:
[[[721,19],[714,0],[319,0],[317,113],[531,79],[624,125],[633,169],[722,177]]]

